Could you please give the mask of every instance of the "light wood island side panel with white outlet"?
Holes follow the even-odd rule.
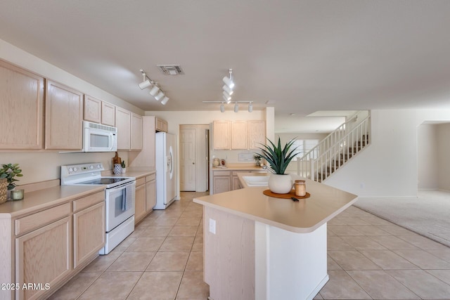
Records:
[[[212,299],[255,299],[255,221],[204,207],[204,279]],[[210,219],[216,233],[210,232]]]

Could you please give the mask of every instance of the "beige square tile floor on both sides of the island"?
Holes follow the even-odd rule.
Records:
[[[207,299],[199,195],[153,211],[51,299]],[[449,247],[356,207],[328,223],[328,274],[315,299],[450,299]]]

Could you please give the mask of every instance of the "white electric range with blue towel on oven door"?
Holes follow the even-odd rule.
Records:
[[[99,254],[108,254],[134,231],[136,178],[101,171],[101,162],[61,166],[61,185],[105,185],[106,242]]]

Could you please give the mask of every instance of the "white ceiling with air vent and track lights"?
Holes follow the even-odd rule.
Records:
[[[0,39],[143,110],[219,110],[202,101],[222,99],[232,68],[233,100],[285,122],[450,107],[449,29],[447,0],[0,0]],[[167,105],[139,89],[140,69]]]

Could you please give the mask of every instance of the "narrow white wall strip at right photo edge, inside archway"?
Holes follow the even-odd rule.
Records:
[[[450,124],[437,125],[439,190],[450,191]]]

